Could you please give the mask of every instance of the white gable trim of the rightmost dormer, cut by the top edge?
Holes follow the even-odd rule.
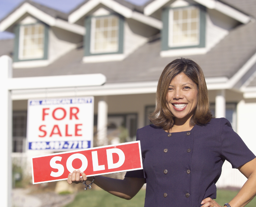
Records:
[[[241,11],[238,11],[237,9],[224,4],[220,1],[215,1],[215,0],[194,0],[196,3],[201,4],[208,9],[215,9],[217,11],[220,11],[221,13],[236,19],[237,21],[241,23],[248,23],[251,20],[251,17],[244,14]],[[153,14],[155,11],[163,7],[165,4],[168,2],[171,2],[171,0],[153,0],[150,1],[148,4],[145,5],[144,7],[144,14],[147,16],[150,16]]]

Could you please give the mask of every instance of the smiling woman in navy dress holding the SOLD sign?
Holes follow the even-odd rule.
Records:
[[[168,64],[158,81],[154,125],[138,129],[143,170],[124,180],[96,176],[94,183],[109,193],[131,199],[147,182],[145,207],[220,207],[215,183],[228,160],[248,180],[225,206],[243,207],[256,195],[256,159],[227,119],[212,119],[203,71],[190,59]],[[68,183],[87,179],[82,172]],[[89,178],[88,180],[92,180]],[[228,202],[228,201],[227,201]]]

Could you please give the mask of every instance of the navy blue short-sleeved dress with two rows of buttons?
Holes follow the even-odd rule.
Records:
[[[204,198],[216,198],[215,183],[225,160],[237,168],[255,158],[225,118],[186,132],[167,133],[148,125],[138,129],[137,140],[143,170],[125,177],[146,179],[145,207],[200,207]]]

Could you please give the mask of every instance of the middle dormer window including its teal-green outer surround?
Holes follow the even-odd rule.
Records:
[[[117,14],[90,16],[85,20],[84,55],[123,53],[124,18]]]

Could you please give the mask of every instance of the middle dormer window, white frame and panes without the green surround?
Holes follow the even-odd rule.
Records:
[[[119,44],[119,19],[116,16],[93,17],[91,30],[92,54],[117,52]]]

